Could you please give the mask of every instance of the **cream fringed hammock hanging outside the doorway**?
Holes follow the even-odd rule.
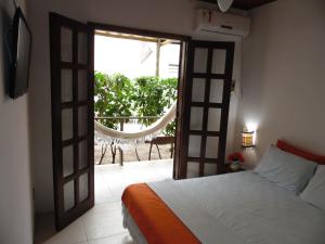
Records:
[[[166,114],[159,118],[157,121],[151,126],[144,128],[143,130],[134,132],[118,131],[109,129],[102,124],[94,121],[95,129],[95,139],[98,141],[103,141],[106,143],[116,143],[116,144],[129,144],[129,143],[139,143],[147,139],[152,139],[154,136],[159,134],[166,126],[172,121],[176,117],[177,103],[166,112]]]

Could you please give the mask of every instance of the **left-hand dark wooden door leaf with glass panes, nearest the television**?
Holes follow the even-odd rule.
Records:
[[[94,205],[93,34],[50,13],[55,224],[61,230]]]

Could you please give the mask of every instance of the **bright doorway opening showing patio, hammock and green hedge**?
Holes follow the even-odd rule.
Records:
[[[172,178],[180,56],[180,40],[94,29],[95,204]]]

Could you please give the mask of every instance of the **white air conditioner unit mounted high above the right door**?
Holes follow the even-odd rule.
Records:
[[[249,28],[248,17],[205,9],[198,9],[196,13],[196,31],[247,37]]]

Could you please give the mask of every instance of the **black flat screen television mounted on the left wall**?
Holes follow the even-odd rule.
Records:
[[[31,31],[21,8],[15,11],[11,33],[9,95],[15,99],[27,92],[31,49]]]

